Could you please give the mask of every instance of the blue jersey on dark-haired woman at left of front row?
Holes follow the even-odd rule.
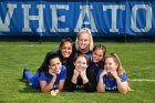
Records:
[[[50,73],[45,75],[44,72],[42,71],[40,74],[35,73],[35,75],[30,80],[30,83],[32,84],[32,87],[39,89],[40,87],[39,81],[45,81],[46,83],[50,83],[52,78],[53,75],[51,75]],[[66,68],[62,65],[60,74],[56,75],[53,89],[58,89],[60,80],[65,79],[66,79]]]

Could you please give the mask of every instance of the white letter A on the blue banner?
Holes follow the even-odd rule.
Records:
[[[95,22],[94,22],[94,18],[93,18],[93,14],[92,14],[92,11],[91,11],[91,9],[93,9],[93,7],[92,6],[80,6],[80,9],[81,9],[81,13],[80,13],[80,17],[79,17],[79,20],[78,20],[78,24],[74,29],[74,32],[79,32],[82,24],[90,24],[91,25],[90,30],[92,32],[97,32],[97,29],[96,29],[96,25],[95,25]],[[87,16],[90,21],[84,21],[85,16]]]

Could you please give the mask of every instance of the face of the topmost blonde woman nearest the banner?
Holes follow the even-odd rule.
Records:
[[[79,49],[84,50],[90,48],[90,37],[86,32],[81,33],[79,37]]]

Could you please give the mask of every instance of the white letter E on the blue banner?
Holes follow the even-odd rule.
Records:
[[[50,29],[51,32],[69,32],[69,28],[65,29],[58,29],[58,22],[65,22],[65,17],[61,16],[58,17],[58,9],[64,9],[69,10],[69,6],[50,6],[50,9],[52,10],[52,29]]]

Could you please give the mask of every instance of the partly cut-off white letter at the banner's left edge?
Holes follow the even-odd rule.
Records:
[[[9,25],[10,25],[10,21],[11,21],[13,11],[17,8],[17,4],[9,4],[8,3],[7,7],[8,7],[8,12],[7,12],[7,16],[4,19],[4,23],[2,23],[2,19],[0,18],[0,31],[3,31],[3,32],[10,31]]]

